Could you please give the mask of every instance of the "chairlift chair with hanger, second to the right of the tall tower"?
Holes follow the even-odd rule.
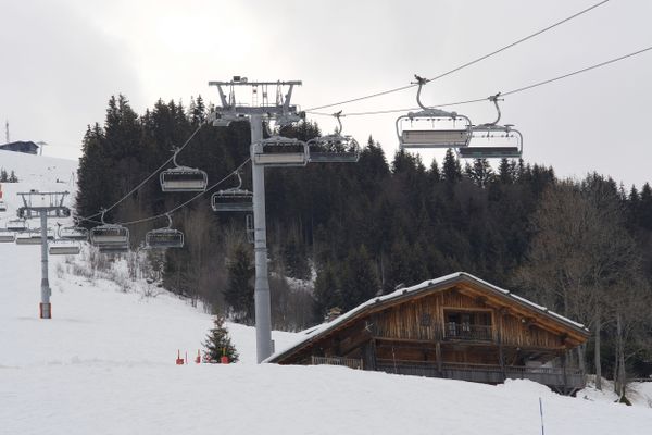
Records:
[[[343,136],[341,111],[334,113],[339,127],[335,134],[315,137],[308,141],[312,163],[355,163],[360,159],[360,145],[351,136]]]

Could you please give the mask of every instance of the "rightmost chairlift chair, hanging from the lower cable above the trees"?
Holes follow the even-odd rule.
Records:
[[[500,92],[489,97],[498,111],[496,121],[472,127],[468,147],[457,149],[461,159],[519,159],[523,156],[523,135],[512,124],[499,125],[501,112],[498,107]]]

